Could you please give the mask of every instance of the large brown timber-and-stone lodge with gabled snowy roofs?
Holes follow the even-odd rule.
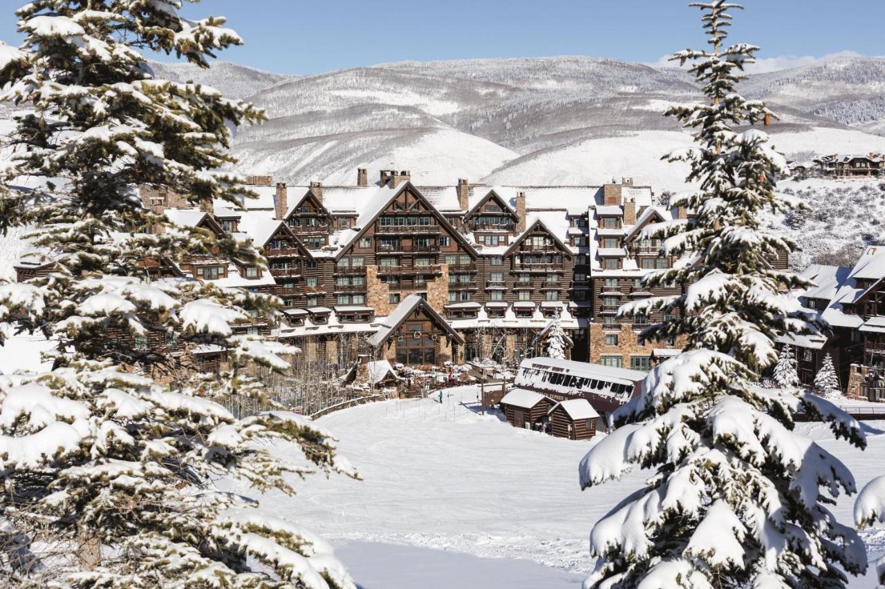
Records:
[[[281,298],[280,325],[243,321],[238,330],[272,334],[342,368],[362,354],[406,364],[516,363],[543,351],[556,317],[574,359],[643,371],[652,352],[668,353],[666,343],[638,337],[662,317],[615,316],[622,302],[662,294],[640,287],[645,272],[684,263],[641,235],[685,214],[655,203],[650,187],[630,179],[417,186],[409,172],[389,170],[370,183],[366,169],[352,186],[249,181],[258,198],[245,200],[245,210],[197,210],[142,188],[145,206],[175,223],[248,238],[263,251],[266,268],[204,256],[157,269]],[[19,279],[47,269],[27,259],[17,266]]]

